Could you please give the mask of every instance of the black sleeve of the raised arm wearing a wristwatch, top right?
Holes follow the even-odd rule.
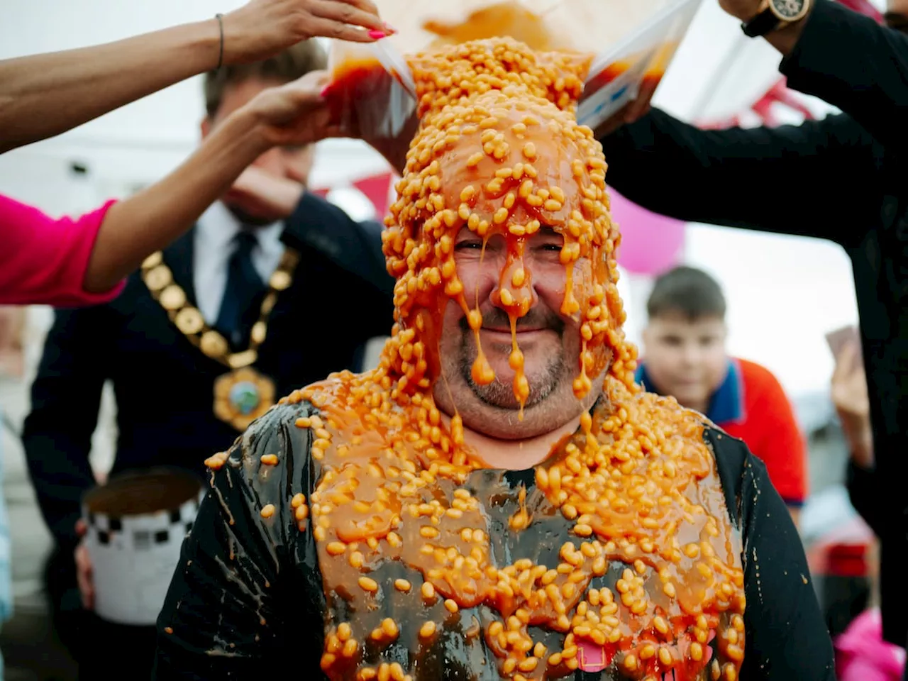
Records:
[[[886,147],[908,148],[908,36],[816,0],[780,71],[789,87],[838,107]]]

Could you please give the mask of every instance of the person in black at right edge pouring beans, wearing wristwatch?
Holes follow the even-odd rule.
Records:
[[[791,23],[767,15],[759,0],[719,4],[783,54],[790,87],[843,113],[776,129],[703,131],[653,110],[617,133],[598,131],[615,169],[608,182],[651,211],[828,239],[847,252],[876,452],[870,502],[883,543],[883,634],[904,646],[908,583],[891,560],[902,560],[908,537],[908,2],[888,0],[889,28],[832,0],[776,0],[806,7]]]

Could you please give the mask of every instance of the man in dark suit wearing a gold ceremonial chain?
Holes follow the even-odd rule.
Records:
[[[202,133],[263,89],[323,68],[313,41],[266,62],[209,74]],[[94,586],[77,530],[102,389],[113,381],[119,439],[111,475],[171,466],[203,474],[274,400],[359,369],[388,335],[392,286],[380,225],[353,222],[305,192],[311,148],[265,153],[192,232],[144,264],[115,301],[57,311],[25,421],[28,466],[54,535],[49,596],[80,677],[148,678],[153,627],[91,611]],[[285,219],[282,219],[285,218]],[[351,311],[356,310],[356,314]],[[78,576],[78,579],[77,579]]]

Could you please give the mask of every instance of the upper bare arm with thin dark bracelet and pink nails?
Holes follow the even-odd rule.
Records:
[[[382,34],[368,29],[386,30],[371,0],[250,0],[222,21],[222,64],[265,59],[316,35],[369,42]],[[216,68],[221,47],[221,27],[212,18],[115,43],[0,61],[0,153]]]

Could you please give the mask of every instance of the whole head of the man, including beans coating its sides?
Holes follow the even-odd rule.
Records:
[[[425,360],[414,378],[508,438],[576,418],[627,353],[601,146],[571,111],[518,92],[427,115],[385,235],[399,331]],[[517,418],[489,418],[501,410]]]

